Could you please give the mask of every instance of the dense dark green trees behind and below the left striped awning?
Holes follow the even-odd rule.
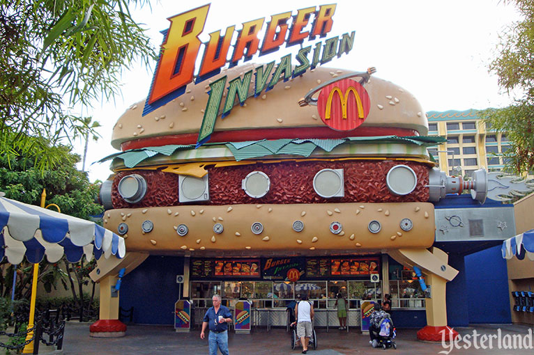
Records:
[[[31,205],[40,204],[40,196],[43,189],[47,192],[47,203],[55,203],[61,208],[61,212],[82,219],[100,214],[103,210],[96,203],[98,196],[98,184],[91,184],[86,173],[78,171],[75,165],[79,161],[79,155],[72,154],[70,149],[59,145],[52,149],[61,150],[65,157],[61,165],[53,170],[40,171],[34,164],[34,159],[17,156],[9,160],[0,155],[0,191],[6,193],[7,198],[20,200]],[[69,263],[63,260],[66,271],[59,267],[59,263],[50,264],[46,260],[40,262],[38,281],[43,283],[45,290],[50,292],[52,287],[56,289],[58,281],[67,289],[70,282],[74,299],[84,305],[84,295],[81,292],[82,284],[89,283],[88,274],[94,263]],[[3,260],[3,264],[7,264]],[[76,292],[71,273],[75,275],[79,285]],[[31,292],[31,265],[22,262],[17,268],[17,285],[15,287],[15,299],[29,299]],[[3,277],[0,277],[1,296],[8,297],[13,283],[13,266],[6,267]],[[94,288],[94,287],[93,287]],[[93,290],[94,294],[94,290]],[[91,296],[91,299],[93,295]]]

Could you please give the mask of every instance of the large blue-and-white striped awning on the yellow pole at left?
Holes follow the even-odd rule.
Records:
[[[26,255],[35,264],[46,255],[57,262],[63,253],[78,262],[102,253],[123,258],[126,248],[122,237],[94,222],[0,197],[0,261],[5,256],[17,265]]]

